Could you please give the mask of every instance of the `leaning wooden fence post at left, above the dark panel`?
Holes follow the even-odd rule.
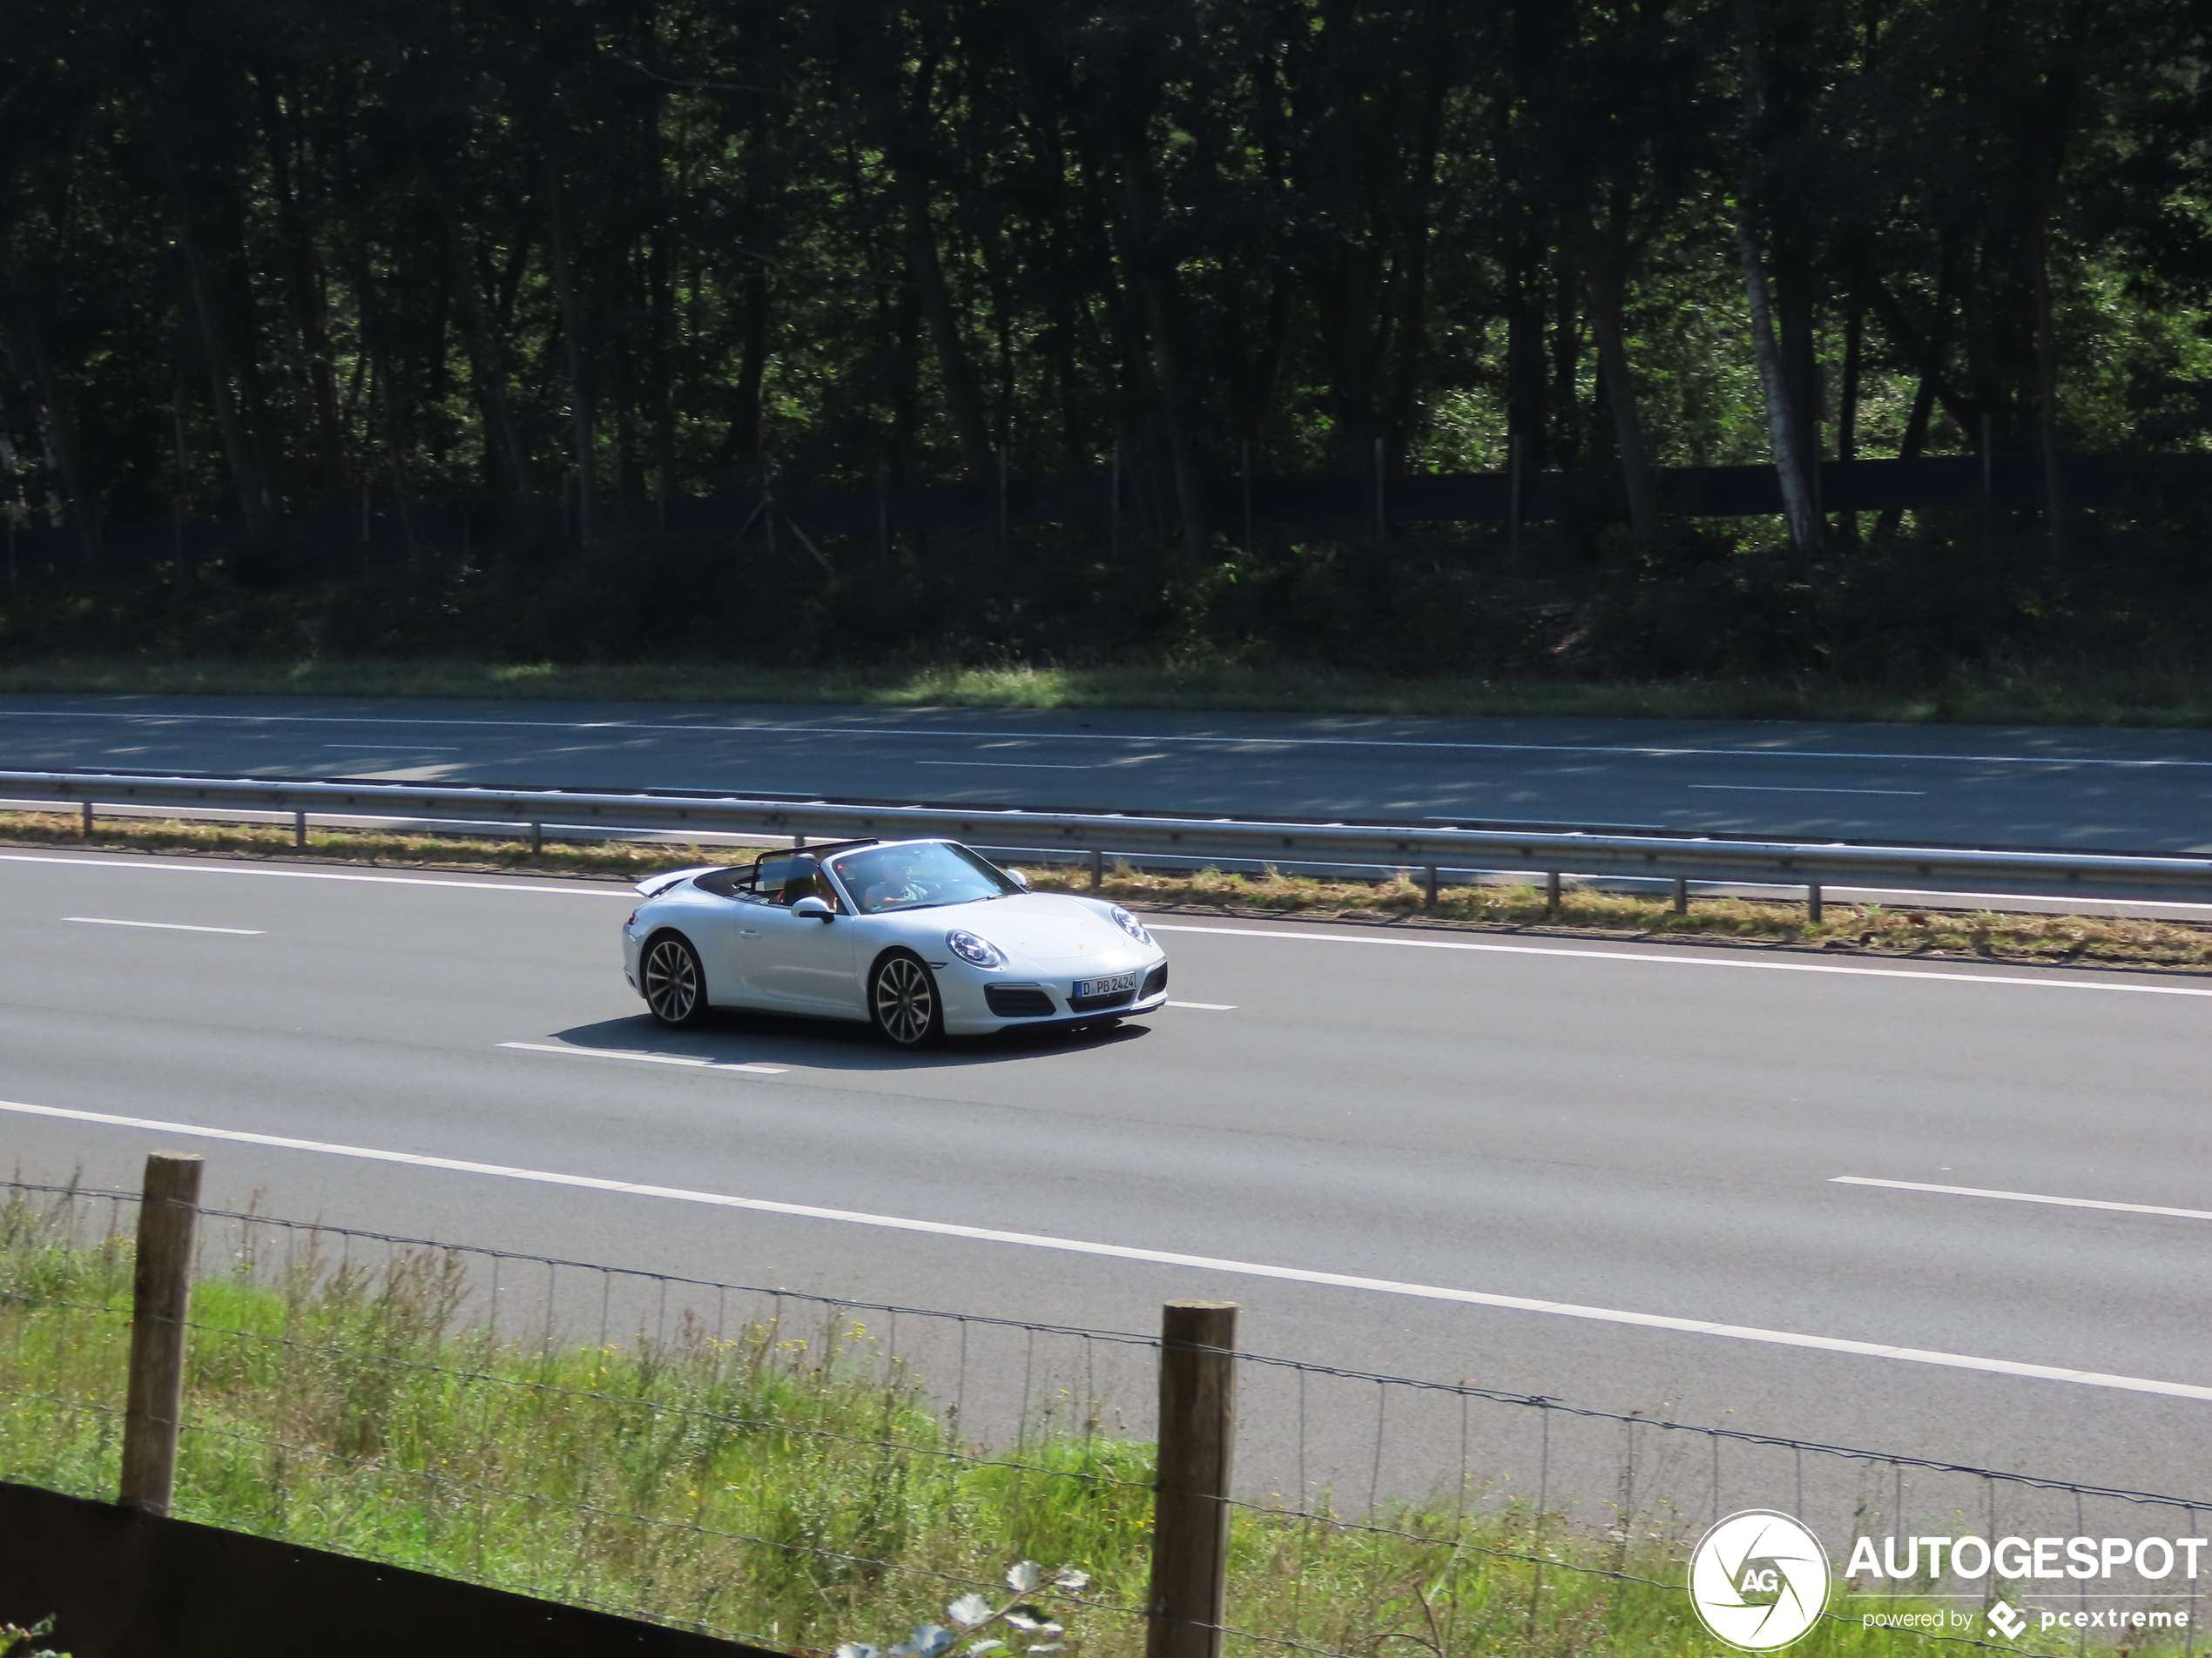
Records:
[[[201,1167],[197,1156],[155,1152],[146,1158],[146,1185],[139,1192],[119,1501],[146,1514],[166,1514],[170,1492],[177,1488],[184,1313],[192,1293],[192,1225],[199,1218]]]

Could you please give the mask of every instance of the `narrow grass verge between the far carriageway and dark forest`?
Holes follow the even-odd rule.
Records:
[[[880,665],[482,661],[0,663],[0,692],[513,696],[639,703],[849,703],[874,707],[1152,707],[1290,714],[1495,714],[1575,718],[1893,721],[1966,725],[2212,725],[2212,670],[1958,670],[1938,685],[1820,681],[1387,679],[1327,668]]]

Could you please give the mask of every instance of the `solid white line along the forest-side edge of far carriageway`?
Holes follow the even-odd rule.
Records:
[[[71,707],[0,707],[0,718],[53,718],[53,721],[142,721],[148,725],[467,725],[467,727],[520,727],[546,732],[739,732],[768,736],[942,736],[975,738],[1000,736],[1035,743],[1194,743],[1194,745],[1263,745],[1263,747],[1327,747],[1327,749],[1471,749],[1484,754],[1637,754],[1646,758],[1721,758],[1721,760],[1942,760],[1953,765],[2108,765],[2108,767],[2183,767],[2212,769],[2212,760],[2115,760],[2106,756],[2055,756],[2055,754],[1858,754],[1847,749],[1674,749],[1641,747],[1632,743],[1453,743],[1444,738],[1405,736],[1188,736],[1159,732],[991,732],[951,730],[942,725],[708,725],[708,723],[657,723],[657,721],[487,721],[487,718],[431,718],[400,714],[108,714]]]

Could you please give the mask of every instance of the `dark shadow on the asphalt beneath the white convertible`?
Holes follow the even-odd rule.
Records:
[[[1022,1059],[1082,1054],[1126,1041],[1141,1041],[1150,1030],[1150,1026],[1135,1021],[1113,1028],[1004,1030],[995,1037],[953,1037],[942,1048],[927,1052],[900,1052],[860,1024],[717,1008],[710,1021],[697,1030],[668,1030],[639,1012],[628,1019],[597,1019],[588,1026],[553,1030],[546,1041],[560,1041],[580,1052],[661,1054],[670,1059],[703,1059],[714,1066],[902,1072],[1004,1066]]]

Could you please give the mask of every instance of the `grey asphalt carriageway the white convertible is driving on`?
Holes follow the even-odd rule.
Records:
[[[619,977],[624,913],[582,882],[0,853],[4,1161],[135,1185],[148,1150],[197,1150],[217,1205],[953,1313],[1148,1331],[1217,1295],[1261,1353],[2212,1494],[2212,984],[1177,922],[1175,993],[1206,1008],[902,1057],[803,1024],[659,1032]],[[768,1070],[664,1063],[701,1057]],[[1307,1463],[1274,1386],[1245,1477],[1374,1477],[1376,1408],[1316,1404]],[[1478,1419],[1486,1472],[1535,1477],[1535,1415]],[[1599,1512],[1619,1433],[1571,1426],[1551,1490]],[[1387,1479],[1433,1479],[1447,1437],[1394,1417]],[[1703,1457],[1639,1492],[1674,1479],[1694,1517]],[[1787,1477],[1730,1461],[1725,1503],[1790,1505]],[[1863,1477],[1812,1472],[1838,1512]]]

